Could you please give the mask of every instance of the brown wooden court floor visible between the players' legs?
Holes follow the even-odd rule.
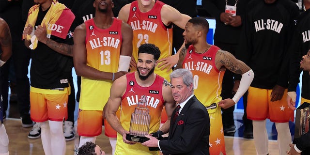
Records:
[[[19,119],[7,118],[4,120],[5,128],[9,136],[10,155],[44,155],[41,139],[31,140],[27,135],[31,128],[21,126]],[[78,138],[66,142],[66,155],[75,155],[75,144]],[[101,134],[97,137],[96,144],[101,146],[106,155],[112,155],[109,139]],[[239,137],[225,137],[227,155],[256,155],[254,141]],[[277,141],[269,140],[269,155],[279,155]]]

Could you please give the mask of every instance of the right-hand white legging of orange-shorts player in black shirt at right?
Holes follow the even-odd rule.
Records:
[[[287,155],[286,151],[290,150],[289,144],[292,143],[289,123],[276,123],[276,128],[278,132],[278,145],[280,155]]]

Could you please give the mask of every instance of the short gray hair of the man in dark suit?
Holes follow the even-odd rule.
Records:
[[[172,78],[181,78],[183,79],[183,83],[189,87],[190,84],[193,84],[194,80],[193,80],[193,74],[192,72],[190,72],[187,69],[184,68],[179,68],[174,70],[171,74],[170,74],[170,79]],[[194,92],[194,87],[192,87],[192,92]]]

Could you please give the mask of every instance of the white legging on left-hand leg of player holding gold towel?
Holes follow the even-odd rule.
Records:
[[[47,121],[41,122],[41,141],[45,155],[52,155],[50,147],[50,131]]]

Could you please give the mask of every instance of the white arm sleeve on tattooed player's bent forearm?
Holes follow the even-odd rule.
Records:
[[[250,86],[250,84],[252,83],[254,78],[254,72],[250,69],[248,72],[244,73],[242,75],[242,78],[240,80],[240,85],[239,88],[236,92],[236,94],[234,94],[233,96],[233,102],[236,104],[239,99],[241,98],[241,96],[247,92],[248,87]]]

